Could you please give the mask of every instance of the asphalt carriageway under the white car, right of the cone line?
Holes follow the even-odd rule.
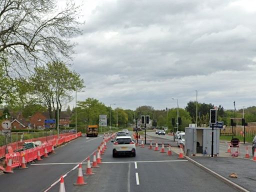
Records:
[[[113,158],[111,149],[108,143],[103,163],[93,168],[94,175],[84,176],[87,185],[73,186],[77,172],[68,174],[64,178],[66,191],[236,191],[177,154],[168,156],[137,146],[135,157]],[[50,191],[58,188],[55,185]]]

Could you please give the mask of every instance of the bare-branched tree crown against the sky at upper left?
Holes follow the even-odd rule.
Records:
[[[70,59],[79,34],[79,6],[67,0],[0,0],[0,64],[7,74],[25,72],[38,64]]]

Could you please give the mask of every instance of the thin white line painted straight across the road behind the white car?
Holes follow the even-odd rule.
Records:
[[[86,159],[87,159],[87,157],[84,160],[86,160]],[[62,165],[62,164],[79,164],[79,163],[87,164],[87,162],[83,162],[84,160],[82,160],[82,162],[50,162],[50,163],[34,163],[34,164],[30,164],[30,165]],[[112,161],[112,162],[102,162],[102,163],[106,163],[106,164],[109,164],[109,163],[134,163],[135,168],[137,168],[137,162],[143,163],[143,162],[183,162],[183,161],[187,161],[187,160]]]

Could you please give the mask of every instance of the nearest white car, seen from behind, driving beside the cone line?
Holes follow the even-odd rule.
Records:
[[[119,154],[131,154],[132,156],[136,156],[135,142],[130,136],[116,136],[115,140],[111,142],[113,142],[113,157]]]

